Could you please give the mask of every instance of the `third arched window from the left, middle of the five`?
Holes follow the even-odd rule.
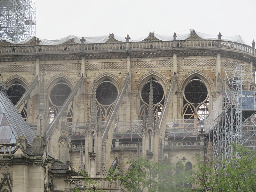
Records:
[[[101,121],[107,121],[118,95],[116,85],[109,79],[101,81],[96,89],[97,114]]]

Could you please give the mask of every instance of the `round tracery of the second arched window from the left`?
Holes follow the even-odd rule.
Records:
[[[58,83],[51,90],[50,100],[52,104],[61,107],[70,93],[71,89],[66,83]]]

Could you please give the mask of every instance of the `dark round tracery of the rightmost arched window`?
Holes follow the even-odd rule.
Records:
[[[204,102],[208,98],[205,84],[200,80],[191,80],[185,87],[184,98],[193,104]]]

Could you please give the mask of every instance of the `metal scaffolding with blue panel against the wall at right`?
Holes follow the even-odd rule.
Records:
[[[205,123],[206,137],[212,140],[215,160],[235,157],[236,144],[249,151],[256,149],[255,71],[247,69],[248,65],[237,63],[225,70],[222,100],[216,100],[216,110],[211,114],[218,116],[209,116]]]

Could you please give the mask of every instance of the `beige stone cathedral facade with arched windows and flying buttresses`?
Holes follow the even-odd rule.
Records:
[[[51,182],[55,190],[70,191],[72,179],[67,177],[72,174],[68,170],[78,172],[83,164],[104,188],[106,171],[115,157],[125,171],[129,168],[126,161],[136,159],[138,150],[140,156],[146,156],[146,150],[153,152],[156,161],[186,159],[186,163],[196,164],[195,154],[206,156],[198,120],[204,120],[220,95],[218,75],[224,78],[224,69],[237,62],[244,70],[256,70],[252,46],[199,37],[162,42],[150,36],[143,42],[109,40],[84,46],[72,40],[61,45],[3,42],[1,78],[13,92],[17,87],[27,91],[16,107],[24,108],[23,117],[37,136],[43,137],[46,130],[47,153],[65,162],[48,165],[48,182],[44,182],[43,165],[4,164],[0,159],[0,173],[9,169],[15,192],[52,191]],[[35,79],[38,83],[28,92]],[[142,132],[143,119],[150,111],[150,79],[157,131]],[[185,98],[188,84],[202,86],[205,98]],[[160,140],[164,145],[159,151]],[[117,184],[113,189],[118,190]]]

